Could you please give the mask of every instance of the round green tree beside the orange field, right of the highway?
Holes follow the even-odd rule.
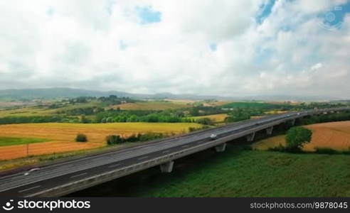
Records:
[[[290,151],[300,151],[305,143],[310,143],[312,131],[302,126],[292,127],[287,131],[287,149]]]

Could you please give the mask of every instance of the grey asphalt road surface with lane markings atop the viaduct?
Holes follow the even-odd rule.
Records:
[[[307,111],[298,112],[306,114]],[[75,160],[68,160],[63,163],[48,165],[36,170],[30,175],[16,173],[0,177],[1,197],[26,197],[36,192],[41,192],[68,182],[92,177],[110,170],[123,168],[127,165],[140,163],[144,160],[157,158],[181,149],[197,146],[199,143],[210,143],[211,134],[218,138],[232,135],[256,127],[257,125],[268,124],[272,121],[286,119],[298,115],[297,112],[268,116],[263,119],[249,120],[238,124],[218,127],[199,133],[192,133],[179,138],[164,139],[157,143],[128,148],[121,151],[101,153],[98,155],[86,156]],[[298,115],[298,116],[299,116]]]

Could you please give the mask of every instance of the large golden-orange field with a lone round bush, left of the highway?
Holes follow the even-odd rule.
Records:
[[[105,137],[111,134],[129,136],[133,133],[182,133],[199,124],[164,123],[110,123],[110,124],[10,124],[0,125],[1,137],[42,138],[48,142],[28,145],[29,155],[79,151],[105,146]],[[88,142],[75,142],[77,133],[88,136]],[[27,145],[0,146],[0,160],[27,156]]]

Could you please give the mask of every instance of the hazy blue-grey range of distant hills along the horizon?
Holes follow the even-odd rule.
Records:
[[[221,97],[213,95],[196,95],[196,94],[133,94],[120,91],[97,91],[88,89],[73,89],[73,88],[39,88],[39,89],[4,89],[0,90],[0,99],[55,99],[55,98],[73,98],[73,97],[102,97],[111,94],[118,97],[132,97],[136,99],[220,99],[220,100],[261,100],[261,101],[327,101],[336,100],[332,97],[292,97],[285,95],[270,95],[270,96],[250,96],[250,97]]]

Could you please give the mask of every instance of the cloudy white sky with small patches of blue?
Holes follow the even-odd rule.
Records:
[[[350,98],[350,0],[11,0],[0,14],[0,89]]]

